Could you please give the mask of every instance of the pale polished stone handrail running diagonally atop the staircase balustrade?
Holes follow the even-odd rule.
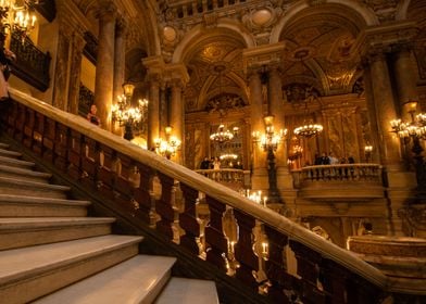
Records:
[[[328,257],[338,264],[343,265],[351,271],[359,274],[380,288],[392,289],[392,286],[394,284],[393,280],[386,277],[377,268],[356,257],[355,254],[341,249],[329,241],[326,241],[322,237],[313,233],[306,228],[301,227],[300,225],[279,215],[278,213],[253,203],[249,199],[238,194],[236,191],[229,190],[227,187],[210,180],[209,178],[203,177],[200,174],[180,166],[170,160],[166,160],[165,157],[156,155],[151,151],[141,149],[140,147],[118,136],[115,136],[110,131],[101,129],[84,117],[61,111],[43,101],[40,101],[13,88],[10,88],[10,94],[13,100],[16,100],[20,103],[42,113],[47,117],[60,122],[64,126],[67,126],[83,135],[102,142],[141,164],[151,166],[174,179],[177,179],[212,198],[215,198],[220,202],[250,214],[268,226],[274,227],[281,233],[287,235],[290,239],[296,240],[321,253],[324,257]]]

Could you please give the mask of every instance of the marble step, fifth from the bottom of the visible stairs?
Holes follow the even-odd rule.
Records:
[[[89,201],[0,194],[0,217],[86,216]]]

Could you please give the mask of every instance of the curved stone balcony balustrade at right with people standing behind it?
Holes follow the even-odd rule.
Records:
[[[350,181],[381,185],[381,166],[378,164],[338,164],[306,166],[292,170],[295,187],[315,182]]]

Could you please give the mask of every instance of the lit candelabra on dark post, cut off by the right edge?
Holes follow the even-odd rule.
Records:
[[[423,148],[421,140],[426,139],[426,114],[419,113],[415,115],[417,102],[409,101],[404,104],[408,112],[410,113],[410,122],[403,122],[402,119],[393,119],[390,122],[392,132],[397,134],[404,143],[413,140],[412,152],[414,154],[414,167],[417,180],[417,191],[419,193],[426,193],[426,168],[423,160]]]

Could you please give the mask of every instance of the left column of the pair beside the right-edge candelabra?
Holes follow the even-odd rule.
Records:
[[[369,56],[369,71],[377,129],[379,131],[379,144],[377,148],[379,149],[381,164],[388,170],[402,170],[400,139],[390,132],[390,121],[398,117],[398,112],[384,53],[376,52]]]

